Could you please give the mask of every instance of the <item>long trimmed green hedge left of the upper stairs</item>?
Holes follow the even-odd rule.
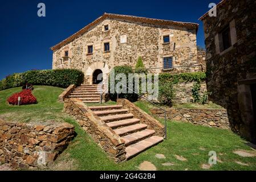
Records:
[[[0,81],[0,90],[23,86],[25,84],[67,88],[71,84],[82,84],[83,79],[83,72],[77,69],[32,70],[7,76]]]

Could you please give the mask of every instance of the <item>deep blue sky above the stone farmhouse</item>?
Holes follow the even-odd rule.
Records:
[[[38,3],[46,5],[46,17],[38,17]],[[51,69],[51,46],[59,43],[104,12],[200,23],[197,44],[205,47],[198,20],[220,0],[8,0],[0,6],[0,79],[30,69]]]

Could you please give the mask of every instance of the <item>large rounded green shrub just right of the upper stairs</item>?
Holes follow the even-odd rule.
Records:
[[[128,85],[129,85],[129,83],[128,83],[128,75],[129,75],[129,73],[133,73],[133,70],[132,70],[132,67],[129,67],[129,66],[117,66],[117,67],[114,67],[112,70],[111,70],[111,72],[113,72],[113,71],[115,71],[115,77],[116,77],[116,75],[117,74],[119,74],[119,73],[124,73],[124,75],[126,76],[126,78],[127,78],[127,80],[126,80],[126,83],[127,83],[127,85],[125,85],[127,88],[128,88]],[[113,73],[111,73],[111,74],[113,74]],[[110,79],[110,77],[109,77],[109,79]],[[118,82],[120,82],[120,80],[115,80],[115,85],[118,83]],[[116,98],[117,98],[117,92],[116,92],[116,90],[115,90],[115,93],[110,93],[110,91],[111,91],[111,89],[110,89],[110,85],[111,85],[112,83],[110,82],[110,80],[109,80],[109,97],[110,97],[110,99],[112,100],[112,101],[115,101],[116,100]],[[134,90],[134,80],[133,80],[133,90]],[[121,86],[121,89],[122,89],[122,86]],[[135,94],[135,93],[128,93],[128,89],[126,89],[127,90],[127,93],[120,93],[119,94],[119,98],[127,98],[129,101],[137,101],[138,100],[138,98],[139,98],[139,96],[137,95],[137,94]]]

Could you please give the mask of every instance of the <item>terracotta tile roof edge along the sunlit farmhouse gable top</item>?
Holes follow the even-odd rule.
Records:
[[[88,24],[86,27],[82,28],[81,30],[79,30],[75,34],[71,35],[67,39],[65,39],[62,42],[51,47],[52,51],[59,49],[60,47],[64,46],[67,43],[72,42],[73,40],[78,38],[80,35],[84,34],[84,32],[89,30],[89,28],[91,28],[92,26],[94,26],[95,24],[99,23],[101,20],[106,19],[106,18],[124,19],[124,20],[131,20],[133,22],[143,22],[143,23],[152,23],[152,24],[160,24],[160,25],[173,25],[173,26],[188,27],[191,29],[196,29],[196,31],[198,30],[198,26],[199,26],[199,24],[197,24],[197,23],[175,22],[172,20],[163,20],[163,19],[145,18],[145,17],[139,17],[139,16],[104,13],[99,18],[94,20],[94,22]]]

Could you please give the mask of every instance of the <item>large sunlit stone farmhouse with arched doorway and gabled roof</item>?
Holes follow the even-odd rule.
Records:
[[[105,13],[51,48],[52,68],[80,69],[86,84],[116,65],[134,67],[139,56],[153,73],[201,71],[197,30],[196,23]]]

